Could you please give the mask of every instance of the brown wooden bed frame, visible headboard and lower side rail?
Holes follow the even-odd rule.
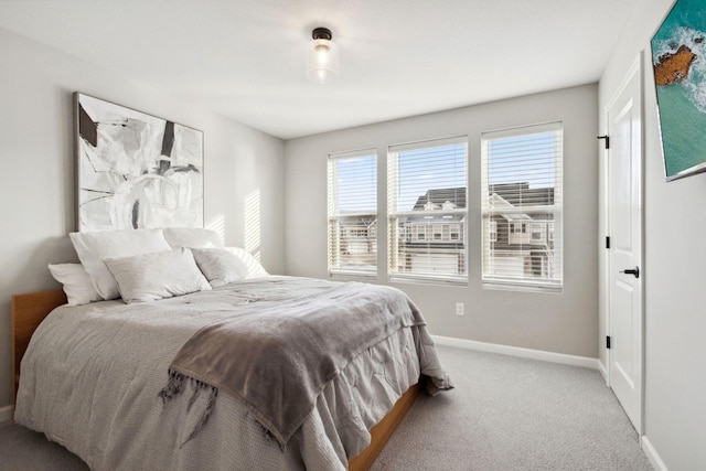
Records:
[[[12,397],[14,399],[17,399],[20,385],[20,362],[30,344],[32,333],[54,308],[65,303],[66,295],[64,291],[41,291],[12,297]],[[371,429],[371,445],[349,461],[350,471],[365,471],[373,465],[387,440],[411,408],[420,390],[420,383],[407,389],[389,414]]]

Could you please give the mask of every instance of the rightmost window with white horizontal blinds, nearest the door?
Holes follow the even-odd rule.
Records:
[[[563,283],[563,126],[483,132],[483,283]]]

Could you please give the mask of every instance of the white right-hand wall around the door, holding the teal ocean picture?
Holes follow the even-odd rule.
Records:
[[[650,39],[667,14],[672,0],[643,0],[640,4],[600,81],[599,129],[606,129],[606,105],[638,53],[644,51],[645,244],[641,267],[645,308],[644,436],[648,454],[651,448],[666,469],[703,470],[706,469],[706,174],[664,181]],[[602,237],[606,214],[602,192],[600,202]],[[601,282],[600,339],[606,334],[602,286]],[[606,362],[602,347],[600,358]]]

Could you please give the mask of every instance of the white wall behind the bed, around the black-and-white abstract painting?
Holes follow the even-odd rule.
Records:
[[[0,61],[0,409],[12,400],[10,297],[58,289],[46,265],[76,260],[74,90],[203,130],[206,224],[228,245],[259,232],[263,264],[284,271],[281,140],[3,30]]]

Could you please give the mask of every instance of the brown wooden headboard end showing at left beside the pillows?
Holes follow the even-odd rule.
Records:
[[[11,342],[12,342],[12,399],[14,400],[20,385],[20,362],[34,330],[44,318],[58,306],[66,303],[64,291],[40,291],[12,297]]]

